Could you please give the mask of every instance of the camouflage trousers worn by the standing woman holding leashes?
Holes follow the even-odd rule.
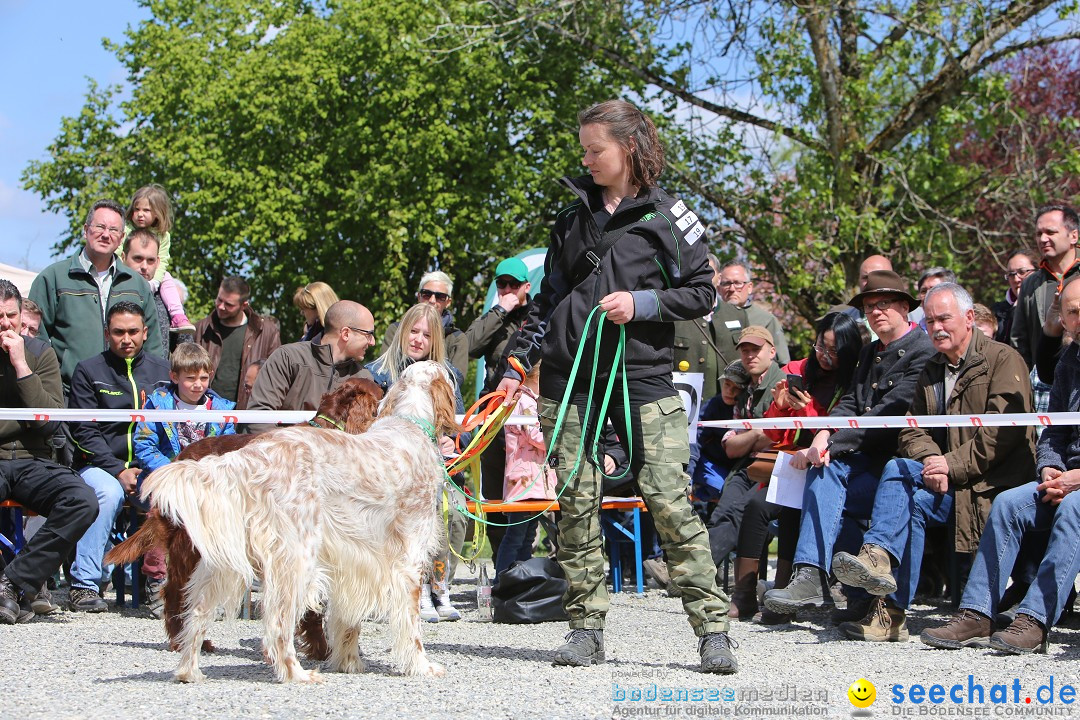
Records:
[[[579,403],[580,400],[580,403]],[[589,448],[572,474],[579,445],[582,443],[581,417],[584,398],[575,397],[555,440],[552,461],[558,486],[566,485],[559,498],[558,563],[566,573],[567,592],[563,606],[571,628],[600,629],[608,610],[608,592],[600,534],[603,475],[589,462]],[[594,404],[594,412],[598,407]],[[683,590],[683,608],[693,631],[728,629],[728,597],[716,584],[716,566],[708,547],[708,533],[687,499],[689,478],[684,470],[689,461],[686,411],[678,396],[652,403],[635,404],[631,397],[631,427],[624,427],[621,405],[608,409],[608,418],[625,445],[632,439],[631,472],[642,490],[642,498],[652,515],[661,547],[667,558],[672,582]],[[540,397],[540,426],[551,448],[558,403]],[[590,443],[593,423],[585,441]]]

